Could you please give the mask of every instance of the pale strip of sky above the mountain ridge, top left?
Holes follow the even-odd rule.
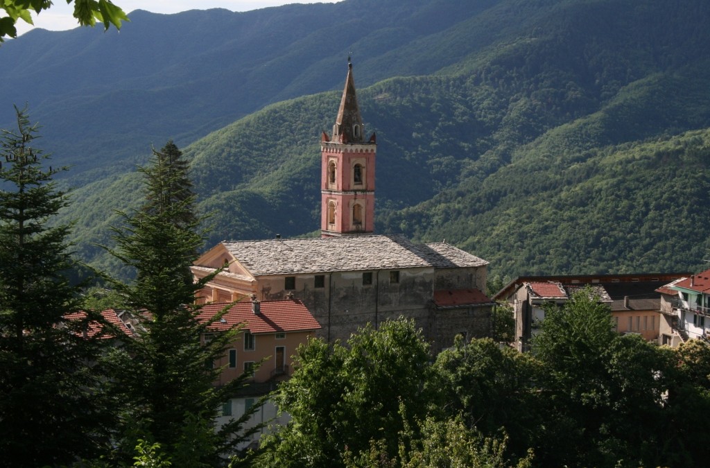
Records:
[[[153,13],[179,13],[185,10],[207,10],[212,8],[224,8],[231,11],[251,11],[267,6],[279,6],[285,4],[315,4],[315,3],[335,3],[337,0],[113,0],[129,13],[133,10],[141,9],[152,11]],[[74,4],[67,5],[65,0],[55,0],[50,9],[42,11],[40,14],[33,14],[32,21],[36,28],[49,29],[50,31],[64,31],[65,29],[77,28],[77,20],[72,16]],[[18,34],[30,31],[33,26],[18,20],[16,23]],[[97,27],[99,27],[97,25]],[[103,26],[100,26],[103,27]]]

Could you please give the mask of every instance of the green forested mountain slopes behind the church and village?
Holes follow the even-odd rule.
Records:
[[[98,264],[91,243],[139,195],[130,170],[168,138],[214,213],[208,246],[318,229],[318,135],[349,50],[378,135],[377,232],[446,239],[494,276],[707,258],[704,1],[346,0],[131,19],[120,34],[34,31],[0,47],[0,115],[29,101],[44,147],[76,165],[66,216]]]

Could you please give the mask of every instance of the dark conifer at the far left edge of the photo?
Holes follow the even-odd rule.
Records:
[[[0,160],[0,464],[43,466],[93,455],[107,443],[107,413],[89,363],[98,337],[84,336],[70,227],[50,220],[67,205],[48,157],[33,147],[38,126],[16,109],[18,131],[3,131]]]

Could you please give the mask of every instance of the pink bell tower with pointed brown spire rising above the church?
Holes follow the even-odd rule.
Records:
[[[375,134],[364,140],[365,127],[355,96],[353,65],[332,136],[323,132],[321,154],[321,236],[372,234],[375,226]]]

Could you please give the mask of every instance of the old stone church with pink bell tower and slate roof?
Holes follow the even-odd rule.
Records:
[[[321,136],[321,236],[222,241],[195,261],[201,302],[301,300],[317,336],[345,341],[360,327],[411,317],[432,344],[491,336],[488,262],[445,242],[374,233],[376,136],[365,136],[352,63],[332,134]]]

